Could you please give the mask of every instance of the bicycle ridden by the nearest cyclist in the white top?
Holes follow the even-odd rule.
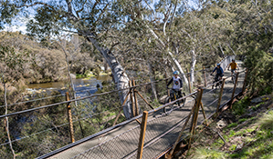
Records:
[[[165,102],[164,104],[168,104],[171,100],[171,102],[175,101],[176,99],[179,99],[179,98],[182,98],[185,96],[184,93],[181,93],[181,96],[178,94],[178,91],[176,91],[175,89],[173,88],[167,88],[167,89],[171,89],[171,92],[170,92],[170,96],[167,96],[166,99],[165,99]],[[185,103],[185,99],[182,99],[180,101],[177,101],[175,104],[177,104],[178,106],[182,107],[184,106],[184,103]],[[170,104],[168,106],[165,106],[163,108],[163,112],[165,114],[171,114],[173,111],[173,104]]]

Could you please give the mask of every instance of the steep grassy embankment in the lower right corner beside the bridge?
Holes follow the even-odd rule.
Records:
[[[273,93],[232,107],[196,134],[186,158],[273,158]]]

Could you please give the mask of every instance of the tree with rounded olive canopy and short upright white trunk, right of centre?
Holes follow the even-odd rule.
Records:
[[[231,14],[221,10],[217,6],[209,6],[201,11],[186,12],[183,16],[177,18],[176,35],[173,35],[172,41],[176,48],[184,56],[190,56],[190,75],[191,83],[194,82],[194,70],[197,60],[209,60],[218,56],[218,48],[223,55],[228,54],[226,32],[233,29],[231,25]],[[223,38],[225,37],[225,38]],[[223,47],[225,46],[226,53]],[[174,47],[174,46],[173,46]]]

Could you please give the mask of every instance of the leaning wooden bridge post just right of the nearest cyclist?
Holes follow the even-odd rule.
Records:
[[[197,93],[197,99],[196,102],[194,104],[194,114],[193,114],[193,120],[192,120],[192,125],[191,125],[191,137],[189,140],[189,149],[191,148],[191,142],[193,139],[193,135],[195,133],[195,126],[197,124],[197,119],[198,119],[198,113],[199,113],[199,109],[200,109],[200,104],[201,104],[201,100],[202,100],[202,94],[203,94],[204,89],[198,89],[198,93]]]

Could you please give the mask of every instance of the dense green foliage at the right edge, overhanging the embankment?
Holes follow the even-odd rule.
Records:
[[[228,1],[218,3],[234,14],[231,42],[237,55],[243,55],[249,69],[250,94],[273,90],[273,24],[272,1]]]

